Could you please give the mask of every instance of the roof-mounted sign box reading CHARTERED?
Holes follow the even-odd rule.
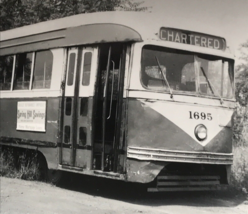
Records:
[[[226,49],[226,41],[221,37],[173,28],[160,28],[160,39],[216,50]]]

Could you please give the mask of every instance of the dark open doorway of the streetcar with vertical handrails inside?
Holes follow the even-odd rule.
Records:
[[[93,169],[117,170],[119,142],[118,125],[123,81],[121,81],[122,44],[100,46],[98,77],[95,96],[95,139]],[[121,94],[122,95],[122,94]]]

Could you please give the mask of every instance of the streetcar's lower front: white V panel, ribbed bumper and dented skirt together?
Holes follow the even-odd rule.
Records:
[[[218,115],[225,108],[163,100],[127,100],[128,180],[150,182],[163,167],[175,162],[223,166],[232,164],[232,130],[229,127],[232,109],[220,123]],[[190,121],[189,109],[209,111],[214,120]],[[195,126],[201,123],[209,129],[209,136],[203,142],[194,136]],[[130,161],[131,164],[128,164]]]

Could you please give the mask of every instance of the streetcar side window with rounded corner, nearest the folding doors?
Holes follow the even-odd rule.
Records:
[[[50,88],[52,78],[53,54],[50,50],[35,54],[33,89]]]

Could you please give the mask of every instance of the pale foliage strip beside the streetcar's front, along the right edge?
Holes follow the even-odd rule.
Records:
[[[242,63],[236,66],[237,109],[233,122],[232,184],[247,193],[248,190],[248,40],[241,44]]]

